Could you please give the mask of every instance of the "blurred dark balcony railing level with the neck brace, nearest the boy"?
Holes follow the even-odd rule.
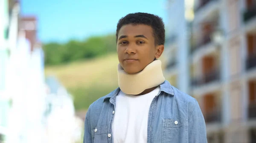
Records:
[[[192,86],[200,86],[200,85],[208,84],[212,81],[219,80],[219,79],[220,79],[219,70],[213,70],[212,72],[204,74],[204,76],[196,77],[192,79],[191,84]]]

